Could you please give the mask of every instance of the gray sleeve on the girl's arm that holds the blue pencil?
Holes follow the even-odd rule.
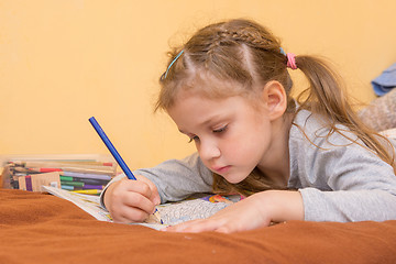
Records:
[[[133,174],[142,175],[155,184],[162,204],[178,201],[197,193],[212,191],[212,174],[202,164],[198,153],[183,160],[169,160],[152,168],[136,169]],[[100,197],[103,208],[103,195],[107,187],[124,177],[125,175],[121,174],[105,187]]]

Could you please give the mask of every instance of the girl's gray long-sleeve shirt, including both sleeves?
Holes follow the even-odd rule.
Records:
[[[288,187],[301,194],[305,220],[396,219],[396,176],[392,166],[352,143],[351,140],[356,139],[352,133],[344,132],[351,140],[339,133],[326,139],[329,130],[308,111],[300,111],[289,133]],[[157,186],[162,202],[211,191],[212,174],[197,153],[138,169],[134,174],[147,177]],[[112,182],[122,177],[124,175]]]

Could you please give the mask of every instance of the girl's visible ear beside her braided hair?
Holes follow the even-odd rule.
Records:
[[[271,80],[265,84],[262,91],[262,99],[268,111],[271,121],[280,118],[287,108],[287,96],[285,88],[279,81]]]

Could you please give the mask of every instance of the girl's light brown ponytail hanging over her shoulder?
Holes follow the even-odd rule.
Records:
[[[306,109],[323,117],[330,128],[329,135],[337,132],[360,144],[346,136],[336,125],[342,124],[346,127],[364,143],[364,147],[367,147],[384,162],[393,166],[396,173],[395,151],[392,147],[392,143],[374,129],[365,125],[353,111],[348,102],[341,78],[331,69],[329,64],[323,59],[312,56],[297,56],[296,64],[307,77],[310,86],[297,97],[297,101],[300,105],[299,109]],[[389,150],[393,151],[391,152]]]

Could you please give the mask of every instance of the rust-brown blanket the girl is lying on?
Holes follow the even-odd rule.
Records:
[[[0,189],[0,263],[396,263],[396,221],[290,221],[166,233],[100,222],[61,198]]]

